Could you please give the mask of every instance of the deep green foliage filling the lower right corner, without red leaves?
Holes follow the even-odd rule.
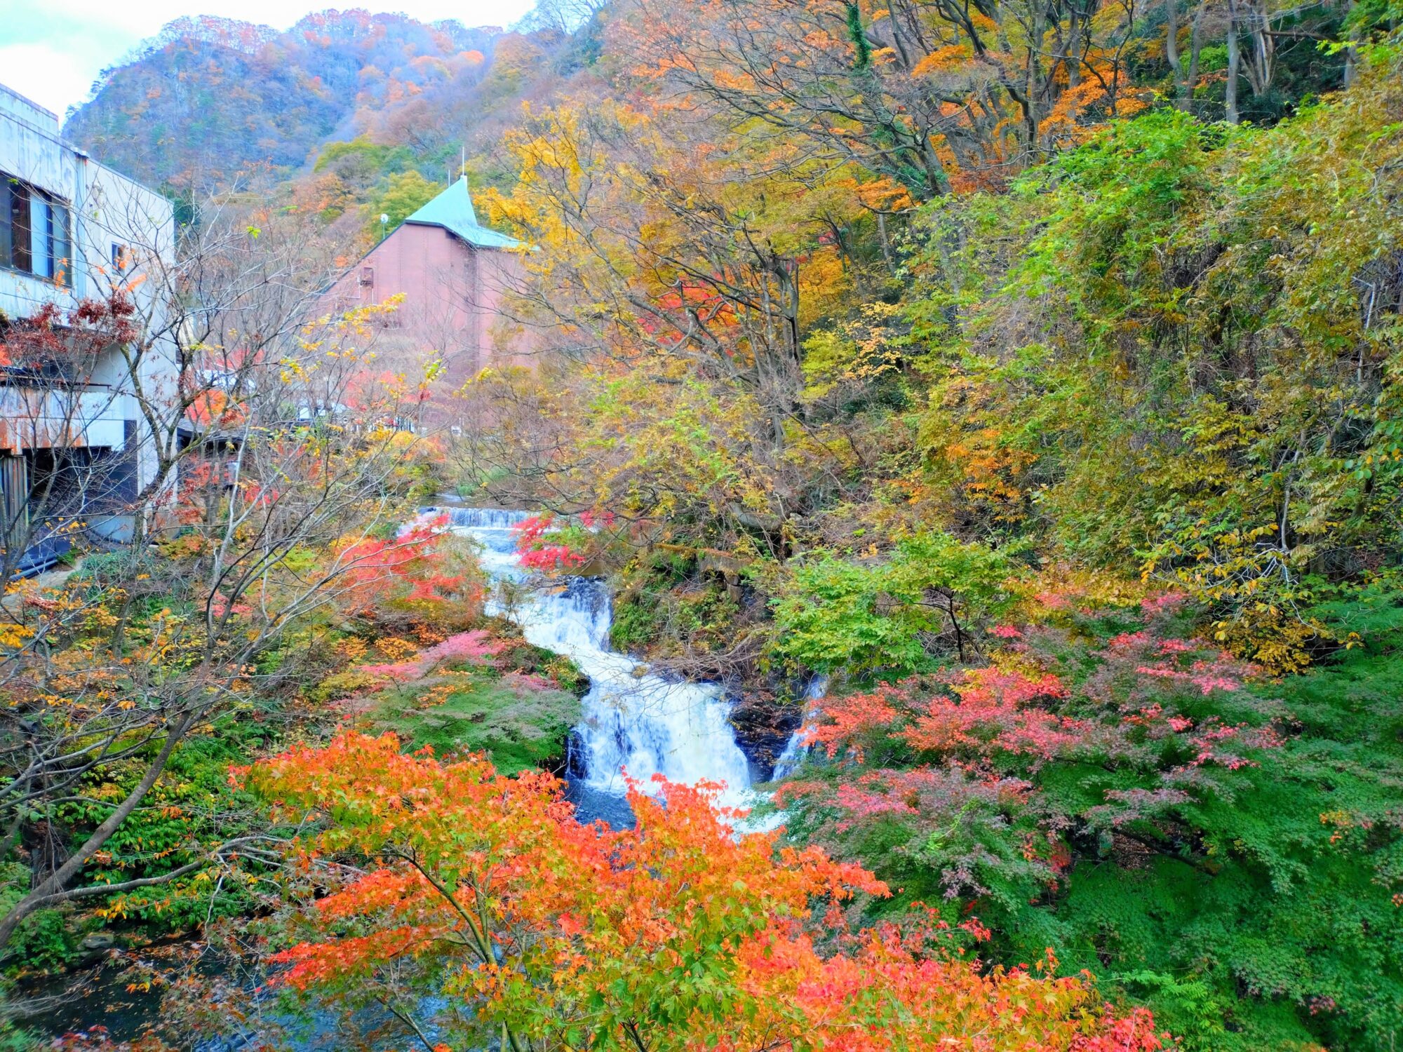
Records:
[[[1204,986],[1186,999],[1125,979],[1190,1048],[1385,1048],[1403,1011],[1397,652],[1350,652],[1260,690],[1295,731],[1186,814],[1204,864],[1186,853],[1079,865],[1055,906],[1061,952]],[[1228,1034],[1207,1025],[1214,1014]]]

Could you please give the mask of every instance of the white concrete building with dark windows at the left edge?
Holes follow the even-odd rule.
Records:
[[[65,142],[56,115],[0,86],[0,328],[123,288],[142,328],[159,331],[163,282],[147,278],[174,248],[170,201]],[[133,379],[112,346],[83,373],[0,362],[0,550],[22,546],[24,571],[66,548],[77,522],[121,539],[154,476],[136,390],[147,401],[174,391],[174,355],[143,353]]]

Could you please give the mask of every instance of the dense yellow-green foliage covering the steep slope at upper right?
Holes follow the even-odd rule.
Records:
[[[1141,561],[1235,651],[1306,663],[1317,586],[1400,553],[1400,102],[1385,65],[1270,130],[1150,112],[932,206],[911,311],[948,349],[943,516]]]

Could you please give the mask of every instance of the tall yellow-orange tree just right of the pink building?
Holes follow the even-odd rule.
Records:
[[[593,393],[593,492],[577,499],[686,508],[781,546],[803,328],[849,281],[829,236],[842,206],[612,101],[535,115],[509,143],[521,178],[492,203],[532,245],[513,310]]]

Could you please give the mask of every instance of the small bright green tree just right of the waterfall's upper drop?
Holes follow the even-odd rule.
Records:
[[[922,532],[882,561],[805,560],[774,600],[776,654],[854,679],[927,670],[951,652],[972,655],[972,634],[1012,606],[1014,564],[1000,551]]]

